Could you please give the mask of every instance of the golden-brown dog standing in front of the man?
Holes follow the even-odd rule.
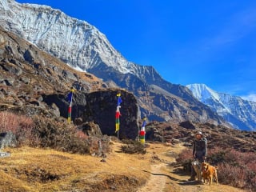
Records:
[[[213,178],[218,184],[218,176],[217,176],[217,170],[218,166],[210,166],[207,162],[202,162],[202,178],[203,183],[206,183],[206,179],[209,180],[209,184],[211,186],[211,183],[213,182]]]

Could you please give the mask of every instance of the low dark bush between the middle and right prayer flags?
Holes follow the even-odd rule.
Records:
[[[121,146],[122,153],[126,154],[146,154],[145,146],[138,141],[124,140],[125,146]]]

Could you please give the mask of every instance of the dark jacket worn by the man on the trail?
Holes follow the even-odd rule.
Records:
[[[195,139],[193,143],[193,157],[195,156],[199,161],[202,161],[202,157],[206,157],[207,155],[206,145],[206,138],[201,138],[200,140]]]

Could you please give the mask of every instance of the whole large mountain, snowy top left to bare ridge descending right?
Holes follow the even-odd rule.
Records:
[[[49,6],[0,0],[0,21],[6,30],[32,42],[74,69],[120,86],[138,98],[142,115],[155,120],[222,123],[210,107],[198,102],[185,86],[166,82],[152,66],[126,61],[106,36],[87,22]]]

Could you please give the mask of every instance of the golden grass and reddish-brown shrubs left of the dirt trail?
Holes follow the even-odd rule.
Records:
[[[88,137],[55,119],[10,112],[1,112],[0,118],[0,131],[11,131],[18,141],[18,148],[5,149],[10,158],[0,158],[0,191],[102,191],[120,187],[135,191],[134,186],[146,182],[146,173],[139,170],[143,157],[121,154],[120,145],[112,148],[115,153],[108,155],[107,162],[101,161],[110,154],[107,137]],[[134,160],[138,164],[134,165]],[[130,173],[132,167],[134,172]]]

